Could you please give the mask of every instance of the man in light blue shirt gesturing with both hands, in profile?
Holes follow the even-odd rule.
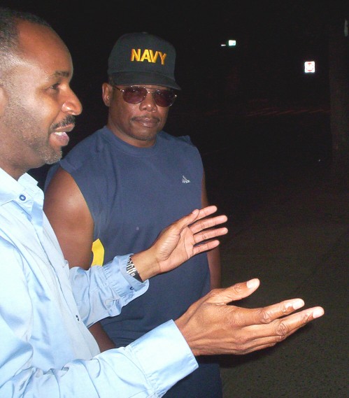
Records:
[[[69,50],[35,15],[0,8],[0,398],[162,397],[197,368],[197,355],[274,346],[321,316],[290,299],[264,308],[227,305],[252,279],[213,290],[129,346],[99,352],[87,327],[120,313],[148,279],[218,246],[226,217],[209,206],[164,229],[141,253],[69,270],[27,171],[62,157],[82,111],[70,87]],[[151,281],[150,281],[151,283]]]

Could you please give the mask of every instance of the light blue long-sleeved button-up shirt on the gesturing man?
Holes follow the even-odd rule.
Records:
[[[99,352],[87,327],[148,289],[129,255],[69,269],[43,213],[43,192],[0,169],[0,398],[162,397],[197,369],[171,320],[125,348]]]

